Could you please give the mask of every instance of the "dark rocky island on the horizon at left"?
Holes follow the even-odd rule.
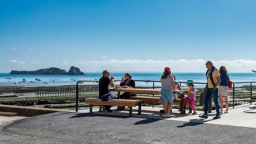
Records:
[[[73,76],[73,75],[86,75],[86,74],[81,72],[79,68],[72,66],[68,72],[64,69],[52,67],[52,68],[38,69],[35,71],[12,70],[9,75],[70,75],[70,76]]]

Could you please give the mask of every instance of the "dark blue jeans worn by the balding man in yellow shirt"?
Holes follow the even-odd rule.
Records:
[[[219,88],[216,88],[215,90],[212,90],[212,88],[208,88],[206,97],[204,100],[204,115],[207,115],[207,113],[208,113],[209,100],[212,96],[213,102],[215,104],[216,112],[217,112],[216,116],[220,116],[220,105],[219,105],[219,101],[218,101],[218,93],[219,93]]]

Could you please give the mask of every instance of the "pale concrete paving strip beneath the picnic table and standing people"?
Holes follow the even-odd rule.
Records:
[[[113,107],[113,112],[98,112],[99,108],[93,109],[95,114],[105,114],[105,115],[117,115],[117,116],[129,116],[129,108],[125,111],[116,111],[116,107]],[[164,118],[164,115],[159,112],[163,108],[152,108],[152,107],[141,107],[141,115],[138,114],[138,107],[133,107],[133,116],[143,117],[143,118],[156,118],[165,120],[175,120],[175,121],[185,121],[185,122],[197,122],[197,123],[207,123],[207,124],[223,124],[223,125],[233,125],[233,126],[243,126],[243,127],[253,127],[256,128],[256,102],[252,105],[244,104],[240,106],[235,106],[235,108],[229,108],[228,113],[221,115],[220,119],[212,119],[216,116],[216,110],[208,114],[208,119],[203,119],[198,117],[198,115],[204,114],[203,111],[197,111],[197,115],[185,114],[180,115],[178,109],[172,110],[171,118]],[[225,108],[224,108],[225,109]],[[89,109],[79,110],[81,113],[89,113]],[[188,113],[188,110],[186,110]],[[158,115],[158,116],[157,116]]]

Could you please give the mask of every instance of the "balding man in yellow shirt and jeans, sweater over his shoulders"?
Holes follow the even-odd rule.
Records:
[[[209,109],[209,100],[211,96],[213,97],[213,101],[216,107],[216,116],[213,119],[220,118],[220,105],[218,101],[218,93],[219,93],[219,84],[220,84],[220,73],[217,68],[213,66],[211,61],[207,61],[205,63],[206,68],[206,77],[207,77],[207,84],[208,89],[204,100],[204,115],[199,116],[201,118],[208,118],[208,109]]]

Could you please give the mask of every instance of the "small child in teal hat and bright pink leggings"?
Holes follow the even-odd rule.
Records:
[[[183,107],[185,105],[185,101],[189,100],[190,107],[194,111],[194,113],[192,115],[196,115],[197,114],[196,113],[196,108],[194,107],[194,102],[196,100],[196,89],[194,87],[193,80],[192,79],[188,79],[186,84],[189,86],[189,88],[188,88],[188,96],[184,98]]]

